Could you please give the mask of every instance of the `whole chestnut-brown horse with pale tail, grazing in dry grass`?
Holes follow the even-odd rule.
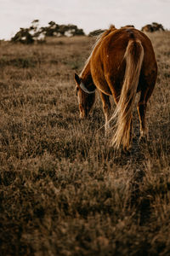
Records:
[[[156,76],[156,57],[150,39],[133,27],[116,29],[111,26],[97,40],[80,76],[75,73],[81,117],[88,116],[93,107],[97,88],[105,113],[105,131],[111,119],[116,118],[112,144],[128,149],[132,139],[134,99],[139,91],[140,138],[147,135],[146,104],[154,90]],[[116,102],[112,115],[109,96]]]

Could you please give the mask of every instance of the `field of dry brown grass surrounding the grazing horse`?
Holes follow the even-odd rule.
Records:
[[[169,255],[170,32],[149,37],[158,79],[149,140],[115,152],[101,102],[79,119],[73,74],[94,38],[0,42],[0,255]],[[113,104],[113,108],[115,108]]]

